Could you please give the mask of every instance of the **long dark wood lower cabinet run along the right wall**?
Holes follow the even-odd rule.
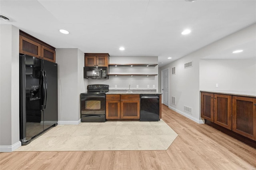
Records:
[[[201,92],[205,123],[256,147],[256,98]]]

